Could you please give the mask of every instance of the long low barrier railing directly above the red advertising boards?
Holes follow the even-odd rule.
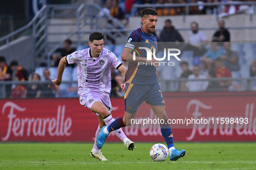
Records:
[[[198,89],[197,91],[190,91],[188,88],[181,88],[182,83],[198,82],[206,84],[206,87]],[[231,82],[231,85],[221,86],[220,82]],[[57,88],[51,81],[5,81],[0,82],[0,98],[36,98],[35,92],[31,92],[31,85],[38,86],[37,91],[40,94],[39,98],[77,98],[78,97],[78,82],[64,81]],[[163,92],[204,92],[204,91],[256,91],[256,77],[254,78],[210,78],[210,79],[160,79],[159,85]],[[191,83],[190,85],[193,85]],[[23,93],[16,93],[23,86]],[[188,85],[189,86],[189,85]],[[13,92],[14,91],[14,92]],[[26,94],[26,95],[21,95]]]

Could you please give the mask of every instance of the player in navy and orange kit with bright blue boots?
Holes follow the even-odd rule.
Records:
[[[156,116],[164,120],[164,123],[160,124],[162,136],[168,146],[170,160],[177,161],[179,158],[185,156],[186,151],[179,151],[179,148],[175,149],[173,144],[172,129],[168,123],[168,117],[165,112],[165,101],[156,76],[157,66],[153,64],[158,61],[154,58],[147,60],[146,50],[141,50],[141,57],[136,56],[135,61],[133,59],[133,50],[135,48],[147,47],[148,49],[155,49],[157,51],[157,39],[152,34],[156,28],[157,16],[158,13],[154,9],[144,9],[141,13],[142,27],[134,30],[128,38],[122,54],[122,60],[129,62],[126,72],[126,94],[124,97],[125,114],[123,117],[117,118],[113,123],[101,129],[97,137],[97,147],[102,148],[110,132],[130,125],[130,120],[134,119],[137,108],[143,101],[146,101]],[[139,65],[139,63],[145,64]]]

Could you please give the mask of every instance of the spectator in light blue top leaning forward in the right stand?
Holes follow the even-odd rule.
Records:
[[[207,51],[206,54],[200,58],[203,72],[211,70],[214,60],[224,54],[223,50],[218,47],[217,42],[211,42],[211,50]]]

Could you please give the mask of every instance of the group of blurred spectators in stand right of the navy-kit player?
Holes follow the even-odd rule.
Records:
[[[181,76],[176,78],[183,79],[207,79],[207,78],[231,78],[231,72],[240,71],[239,55],[237,51],[231,50],[230,33],[225,28],[224,20],[218,21],[219,29],[213,32],[212,38],[208,40],[204,31],[199,29],[197,22],[191,22],[189,32],[189,42],[184,42],[182,35],[175,29],[170,19],[165,21],[165,26],[160,32],[159,42],[176,42],[172,44],[181,51],[192,52],[191,63],[183,61],[180,63],[182,70]],[[210,45],[209,45],[210,44]],[[186,54],[185,54],[186,55]],[[181,56],[184,56],[181,54]],[[185,57],[185,56],[184,56]],[[181,58],[183,60],[183,58]],[[251,76],[254,76],[256,62],[251,63]],[[192,65],[192,70],[189,69]],[[166,79],[165,68],[158,69],[159,79]],[[169,77],[167,79],[174,79]],[[178,91],[218,91],[228,90],[232,85],[231,81],[183,81],[179,83]]]

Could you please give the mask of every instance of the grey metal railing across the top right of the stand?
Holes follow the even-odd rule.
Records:
[[[218,18],[218,14],[221,12],[221,7],[225,5],[249,5],[253,6],[253,12],[256,13],[256,2],[227,2],[227,3],[164,3],[164,4],[134,4],[131,9],[131,16],[136,16],[138,9],[152,8],[152,9],[163,9],[163,8],[175,8],[175,7],[185,7],[185,15],[189,14],[189,8],[193,6],[216,6],[217,13],[216,19]]]

